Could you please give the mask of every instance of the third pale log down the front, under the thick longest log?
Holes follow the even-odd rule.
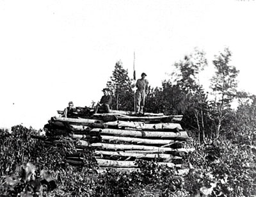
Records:
[[[129,138],[129,137],[118,137],[118,136],[101,136],[102,140],[108,141],[125,141],[134,144],[143,145],[170,145],[171,143],[180,143],[173,139],[146,139],[146,138]],[[81,138],[80,138],[81,139]]]

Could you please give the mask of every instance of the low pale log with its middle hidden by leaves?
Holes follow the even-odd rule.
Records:
[[[134,161],[113,161],[108,159],[96,159],[100,167],[116,167],[116,168],[136,168],[138,164]],[[169,168],[181,168],[180,164],[171,162],[158,162],[159,165],[166,165]]]

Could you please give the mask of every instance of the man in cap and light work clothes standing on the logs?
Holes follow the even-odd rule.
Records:
[[[145,79],[147,75],[145,72],[141,74],[141,79],[136,82],[136,114],[143,114],[145,105],[145,97],[148,93],[148,81]]]

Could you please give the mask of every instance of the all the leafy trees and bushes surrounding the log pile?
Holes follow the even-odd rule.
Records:
[[[208,63],[198,49],[175,63],[176,80],[163,81],[147,95],[148,112],[184,114],[182,127],[191,136],[187,146],[195,148],[184,161],[185,175],[140,160],[140,170],[132,173],[98,173],[93,150],[84,150],[85,168],[70,166],[64,159],[74,149],[70,141],[47,145],[31,138],[40,131],[17,125],[12,133],[0,132],[1,196],[256,196],[256,96],[237,91],[231,57],[224,49],[213,61],[213,100],[200,84]],[[121,62],[108,87],[114,109],[133,109],[131,79]]]

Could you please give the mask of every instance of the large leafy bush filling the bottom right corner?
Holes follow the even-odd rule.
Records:
[[[189,155],[191,169],[184,189],[211,196],[253,196],[256,194],[255,155],[248,146],[234,145],[222,138],[210,145],[198,145]]]

